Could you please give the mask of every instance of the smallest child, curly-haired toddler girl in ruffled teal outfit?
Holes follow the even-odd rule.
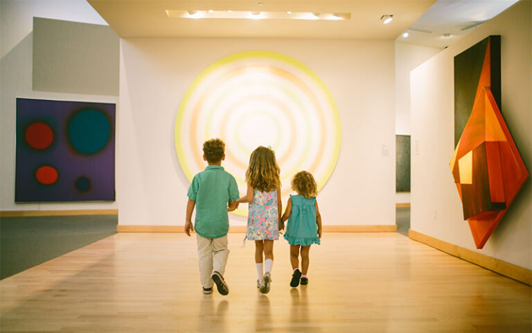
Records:
[[[317,185],[312,174],[307,171],[296,173],[292,179],[292,189],[296,196],[290,195],[285,214],[281,218],[280,230],[285,228],[285,239],[290,244],[290,263],[294,273],[290,287],[308,284],[307,271],[311,244],[318,244],[321,239],[321,216],[316,201]],[[301,271],[299,271],[299,255],[301,249]]]

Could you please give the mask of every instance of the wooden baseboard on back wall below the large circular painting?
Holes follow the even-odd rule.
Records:
[[[117,225],[117,232],[184,232],[183,225]],[[397,225],[323,225],[323,232],[396,232]],[[233,225],[229,232],[246,232],[245,225]]]

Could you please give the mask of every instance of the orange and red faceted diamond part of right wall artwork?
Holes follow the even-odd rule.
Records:
[[[487,40],[471,114],[450,161],[477,248],[484,247],[529,176],[490,89],[493,53]]]

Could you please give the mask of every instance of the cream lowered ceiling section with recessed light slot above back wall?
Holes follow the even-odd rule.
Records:
[[[121,37],[281,37],[394,40],[436,0],[87,0]],[[263,3],[259,5],[259,1]],[[349,12],[344,21],[178,19],[166,10]],[[382,24],[382,15],[393,15]]]

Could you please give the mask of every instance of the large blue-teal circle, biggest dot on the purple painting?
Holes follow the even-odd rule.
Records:
[[[84,109],[69,123],[70,144],[76,151],[90,155],[102,150],[111,137],[111,124],[103,112]]]

